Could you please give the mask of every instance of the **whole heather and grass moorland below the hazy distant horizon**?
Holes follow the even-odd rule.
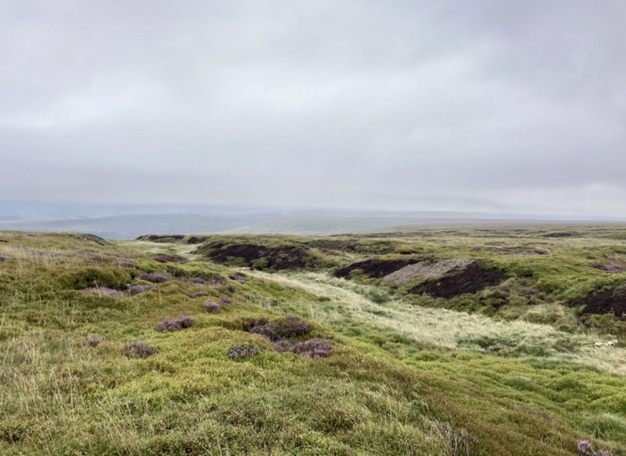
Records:
[[[0,232],[0,454],[626,454],[625,239]]]

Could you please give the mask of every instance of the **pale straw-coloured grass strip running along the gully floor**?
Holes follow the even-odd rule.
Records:
[[[368,297],[376,293],[375,287],[322,273],[250,274],[330,298],[334,306],[322,307],[316,302],[308,307],[307,317],[321,324],[338,324],[347,318],[405,333],[420,346],[440,350],[467,349],[460,341],[478,338],[500,338],[517,345],[544,345],[555,350],[566,344],[572,347],[571,352],[559,352],[556,356],[626,375],[626,349],[593,347],[595,342],[610,340],[608,336],[593,332],[566,333],[545,324],[498,321],[477,314],[412,306],[397,299],[377,304]]]

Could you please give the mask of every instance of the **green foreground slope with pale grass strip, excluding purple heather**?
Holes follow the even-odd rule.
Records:
[[[115,257],[84,263],[75,249],[139,249],[67,235],[0,238],[9,240],[0,254],[10,257],[0,262],[1,454],[435,455],[454,454],[453,443],[467,441],[464,430],[478,439],[477,455],[574,454],[590,433],[605,447],[626,445],[626,381],[609,373],[621,372],[613,357],[622,351],[590,368],[593,335],[448,311],[441,319],[432,309],[415,308],[423,311],[417,318],[402,302],[384,302],[384,292],[325,275],[229,280],[233,291],[170,280],[133,297],[98,297],[78,289],[94,276],[122,285],[136,273],[111,265]],[[175,275],[229,273],[149,258],[132,261]],[[187,297],[199,290],[212,296]],[[204,312],[202,301],[221,295],[233,306]],[[196,318],[194,327],[154,331],[183,313]],[[340,336],[333,355],[277,353],[242,331],[248,319],[288,313]],[[86,347],[95,335],[105,342]],[[483,353],[481,337],[525,348],[494,357]],[[122,347],[135,341],[159,353],[127,359]],[[246,361],[226,356],[247,341],[267,349]],[[578,355],[567,354],[572,345]]]

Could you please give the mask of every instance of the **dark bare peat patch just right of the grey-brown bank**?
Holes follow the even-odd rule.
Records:
[[[506,273],[489,270],[473,263],[462,272],[438,279],[430,279],[409,290],[413,294],[428,293],[434,298],[450,299],[463,294],[474,294],[507,279]]]

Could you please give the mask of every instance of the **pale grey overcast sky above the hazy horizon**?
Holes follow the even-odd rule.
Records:
[[[624,0],[0,0],[0,199],[626,216]]]

